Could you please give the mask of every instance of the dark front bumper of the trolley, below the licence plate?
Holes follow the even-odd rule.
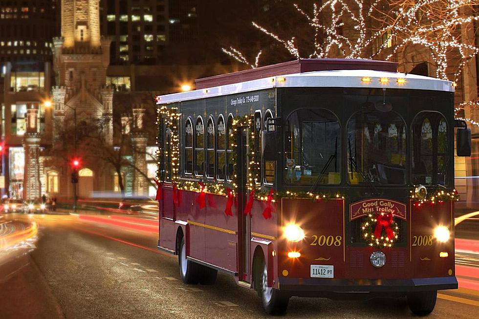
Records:
[[[457,289],[455,276],[411,279],[327,279],[279,278],[280,291],[294,296],[315,292],[338,293],[408,293]]]

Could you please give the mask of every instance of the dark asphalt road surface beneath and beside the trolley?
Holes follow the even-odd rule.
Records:
[[[212,286],[181,282],[157,235],[76,216],[35,219],[38,240],[1,270],[0,318],[267,318],[257,294],[218,274]],[[5,265],[3,265],[5,266]],[[291,298],[285,318],[410,318],[405,299]],[[428,318],[478,318],[479,292],[440,292]]]

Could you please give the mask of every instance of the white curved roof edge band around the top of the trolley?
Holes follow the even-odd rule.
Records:
[[[361,81],[364,77],[369,77],[371,82],[365,83]],[[388,78],[390,81],[383,84],[379,82],[380,78]],[[397,79],[405,79],[406,83],[398,84],[396,82]],[[386,87],[454,92],[454,86],[451,81],[421,75],[372,70],[337,70],[295,73],[189,92],[162,95],[156,104],[197,100],[206,97],[250,92],[272,87]]]

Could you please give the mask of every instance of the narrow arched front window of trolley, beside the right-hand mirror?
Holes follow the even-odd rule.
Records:
[[[412,183],[446,186],[449,151],[446,119],[438,112],[420,112],[414,118],[411,130]]]

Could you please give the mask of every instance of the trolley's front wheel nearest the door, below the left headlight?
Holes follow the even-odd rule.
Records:
[[[258,266],[255,267],[255,278],[258,284],[257,290],[260,295],[263,308],[269,315],[284,315],[288,308],[289,296],[280,292],[278,289],[268,287],[268,269],[264,258],[257,260]]]

